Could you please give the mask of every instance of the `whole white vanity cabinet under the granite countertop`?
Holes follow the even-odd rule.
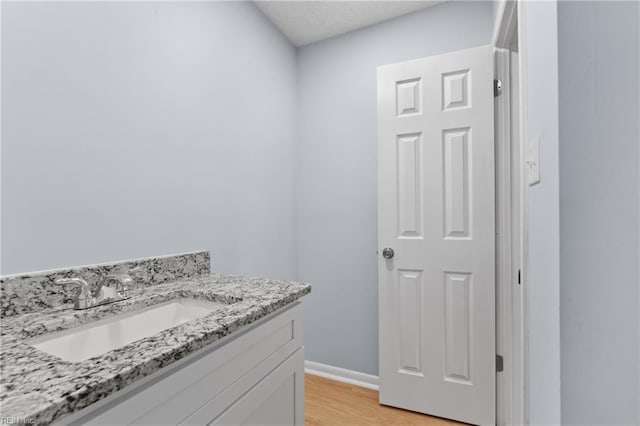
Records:
[[[302,337],[297,302],[58,424],[302,425]]]

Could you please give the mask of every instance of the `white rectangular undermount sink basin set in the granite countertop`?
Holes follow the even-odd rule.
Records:
[[[196,299],[177,299],[41,336],[28,343],[66,361],[84,361],[226,306]]]

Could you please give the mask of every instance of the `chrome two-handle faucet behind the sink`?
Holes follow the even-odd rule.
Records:
[[[115,288],[111,283],[115,281]],[[73,309],[88,309],[129,298],[129,285],[133,282],[128,274],[109,274],[100,286],[97,297],[91,294],[91,287],[82,278],[59,278],[56,284],[79,284],[80,292],[73,303]]]

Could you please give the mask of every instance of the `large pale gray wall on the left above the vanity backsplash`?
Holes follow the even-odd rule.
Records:
[[[249,2],[2,4],[2,274],[295,278],[295,49]]]

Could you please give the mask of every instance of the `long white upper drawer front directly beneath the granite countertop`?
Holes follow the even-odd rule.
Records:
[[[88,415],[80,421],[96,425],[176,425],[236,382],[248,383],[245,376],[259,372],[259,365],[262,369],[273,365],[273,369],[301,346],[302,306],[297,305],[114,401],[106,410],[98,410],[99,415]],[[247,389],[253,384],[246,384]]]

